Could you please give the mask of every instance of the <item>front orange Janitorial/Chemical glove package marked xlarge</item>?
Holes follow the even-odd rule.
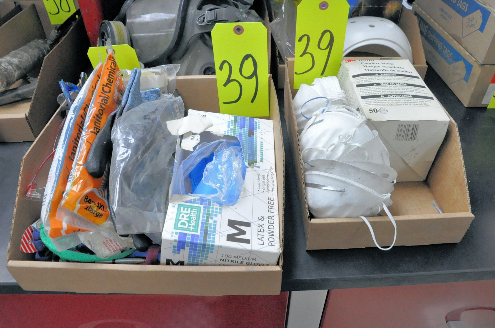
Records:
[[[113,51],[110,51],[89,106],[72,171],[56,214],[56,219],[63,224],[63,233],[75,235],[65,238],[62,248],[67,249],[82,242],[97,256],[106,258],[132,246],[119,238],[109,219],[104,190],[108,172],[101,178],[94,178],[86,168],[91,145],[108,116],[120,105],[123,93],[122,75]]]

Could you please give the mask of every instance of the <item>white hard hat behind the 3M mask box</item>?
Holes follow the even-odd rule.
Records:
[[[409,40],[392,21],[382,17],[360,16],[347,20],[344,56],[351,51],[399,56],[412,63]]]

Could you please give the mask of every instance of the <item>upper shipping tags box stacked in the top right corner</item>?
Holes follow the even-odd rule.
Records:
[[[495,1],[416,0],[416,5],[481,64],[495,64]]]

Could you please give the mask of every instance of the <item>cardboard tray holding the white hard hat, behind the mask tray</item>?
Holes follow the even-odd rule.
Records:
[[[423,51],[423,45],[421,44],[421,35],[419,34],[419,28],[417,26],[418,22],[411,10],[402,10],[398,25],[411,44],[413,66],[419,73],[419,76],[424,79],[428,65],[426,64],[425,52]],[[279,89],[283,89],[285,85],[286,65],[284,59],[280,56],[278,49],[277,53],[279,57],[277,86]]]

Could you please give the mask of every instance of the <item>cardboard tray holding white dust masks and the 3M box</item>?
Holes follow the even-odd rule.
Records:
[[[292,161],[297,172],[297,193],[301,195],[306,249],[375,247],[366,224],[360,218],[323,218],[310,216],[298,143],[293,99],[294,60],[288,61],[285,87],[285,119]],[[458,243],[474,215],[471,213],[464,161],[457,124],[450,119],[446,137],[440,146],[426,181],[397,182],[392,193],[394,204],[389,210],[397,224],[396,246]],[[443,213],[435,208],[435,201]],[[386,216],[368,217],[380,246],[391,245],[394,227]]]

